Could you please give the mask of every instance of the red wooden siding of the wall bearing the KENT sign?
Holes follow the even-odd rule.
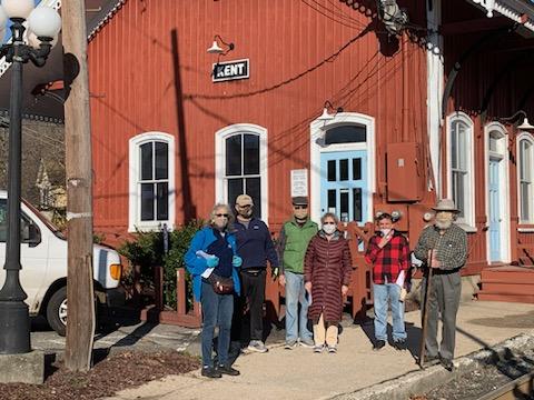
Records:
[[[424,26],[417,3],[411,20]],[[211,82],[214,34],[235,43],[221,61],[250,59],[250,79]],[[375,202],[385,202],[386,143],[427,134],[424,47],[388,41],[373,12],[339,1],[130,0],[90,42],[89,68],[95,229],[110,241],[127,230],[128,140],[141,132],[176,138],[181,223],[216,201],[215,132],[266,128],[273,229],[290,213],[289,170],[309,168],[309,123],[325,100],[376,119]]]

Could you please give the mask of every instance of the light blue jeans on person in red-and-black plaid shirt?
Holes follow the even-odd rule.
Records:
[[[398,301],[400,287],[396,283],[373,283],[375,301],[375,338],[387,341],[387,303],[392,303],[393,341],[406,339],[404,302]]]

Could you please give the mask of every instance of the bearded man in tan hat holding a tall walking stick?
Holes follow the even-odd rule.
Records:
[[[434,207],[436,211],[435,222],[421,233],[415,257],[424,262],[422,299],[425,301],[428,276],[432,277],[431,292],[426,304],[428,310],[423,310],[427,316],[427,331],[425,338],[428,363],[439,360],[443,367],[452,371],[456,313],[459,306],[462,291],[461,269],[467,260],[467,236],[465,231],[454,223],[458,210],[451,199],[442,199]],[[432,273],[429,273],[432,268]],[[437,346],[437,320],[438,312],[442,316],[442,343]]]

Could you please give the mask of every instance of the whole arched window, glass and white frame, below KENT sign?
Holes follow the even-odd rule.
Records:
[[[254,216],[267,220],[267,130],[237,123],[216,133],[216,197],[233,206],[247,193]]]

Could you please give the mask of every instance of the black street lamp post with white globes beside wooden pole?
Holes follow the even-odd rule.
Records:
[[[0,290],[0,354],[31,351],[30,318],[27,294],[20,284],[20,187],[21,187],[21,123],[22,64],[31,61],[44,66],[52,42],[61,29],[61,18],[48,7],[33,8],[33,0],[2,0],[0,32],[7,19],[12,24],[11,42],[0,47],[0,57],[11,62],[8,160],[8,238],[6,281]],[[28,22],[28,32],[26,22]],[[3,36],[2,36],[3,37]]]

